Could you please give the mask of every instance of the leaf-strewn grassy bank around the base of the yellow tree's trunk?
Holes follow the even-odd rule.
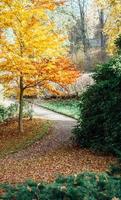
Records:
[[[40,140],[50,127],[50,122],[40,119],[24,119],[23,123],[23,133],[19,133],[16,120],[0,124],[0,157],[15,153]]]

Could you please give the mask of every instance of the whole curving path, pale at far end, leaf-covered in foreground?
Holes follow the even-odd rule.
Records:
[[[115,161],[111,156],[73,147],[71,131],[76,120],[35,105],[33,109],[36,117],[52,120],[52,129],[27,149],[0,160],[0,182],[16,183],[26,179],[50,182],[60,174],[104,171]]]

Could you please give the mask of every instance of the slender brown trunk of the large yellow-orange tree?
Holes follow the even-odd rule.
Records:
[[[19,96],[19,131],[23,132],[23,77],[20,77],[20,96]]]

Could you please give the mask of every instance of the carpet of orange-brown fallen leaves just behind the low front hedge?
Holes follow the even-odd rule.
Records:
[[[8,157],[0,163],[0,182],[16,183],[26,179],[50,182],[60,174],[104,171],[112,161],[114,161],[112,157],[96,156],[86,149],[72,148],[23,160]]]

